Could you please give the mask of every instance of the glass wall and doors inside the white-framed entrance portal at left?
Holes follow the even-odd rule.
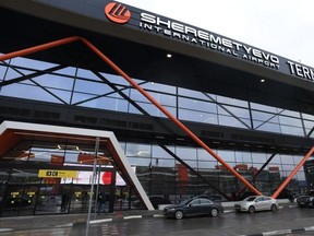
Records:
[[[106,140],[99,141],[93,175],[95,145],[61,137],[48,140],[47,134],[24,138],[1,162],[0,215],[87,213],[92,182],[93,197],[104,193],[106,211],[119,210],[118,199],[129,188],[112,166]],[[95,198],[92,209],[97,211]]]

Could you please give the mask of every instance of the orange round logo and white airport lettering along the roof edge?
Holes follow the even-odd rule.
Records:
[[[305,67],[256,47],[118,2],[110,2],[105,7],[105,14],[111,22],[116,21],[112,20],[111,15],[106,13],[106,9],[107,12],[118,12],[118,14],[122,14],[122,12],[126,14],[128,10],[128,15],[123,15],[124,19],[132,19],[132,23],[128,20],[128,26],[235,57],[304,80],[314,81],[313,68]],[[108,11],[108,9],[110,11]],[[133,12],[134,14],[132,14]],[[121,22],[116,23],[121,24]]]

